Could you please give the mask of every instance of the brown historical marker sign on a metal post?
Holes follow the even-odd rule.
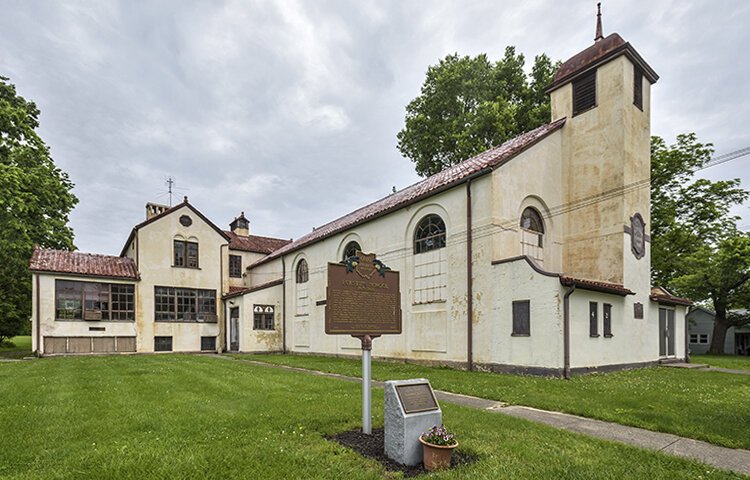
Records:
[[[374,254],[357,252],[345,263],[328,264],[325,305],[327,334],[401,333],[398,272]]]

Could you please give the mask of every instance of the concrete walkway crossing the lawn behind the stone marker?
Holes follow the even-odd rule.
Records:
[[[217,355],[222,358],[221,355]],[[262,367],[278,368],[295,372],[307,373],[321,377],[336,378],[347,382],[360,383],[358,377],[349,377],[336,373],[320,372],[306,368],[289,367],[273,363],[259,362],[257,360],[235,359],[240,362],[250,363]],[[373,380],[373,386],[382,387],[383,382]],[[486,398],[472,397],[451,392],[435,390],[435,396],[441,402],[453,403],[464,407],[477,408],[492,413],[501,413],[512,417],[523,418],[532,422],[543,423],[551,427],[571,432],[582,433],[592,437],[603,438],[615,442],[627,443],[648,450],[698,460],[708,465],[724,470],[730,470],[745,475],[750,475],[750,450],[732,449],[720,447],[711,443],[678,437],[670,433],[652,432],[642,428],[628,427],[618,423],[603,422],[591,418],[579,417],[567,413],[550,412],[537,408],[523,407],[519,405],[506,405],[502,402],[488,400]]]

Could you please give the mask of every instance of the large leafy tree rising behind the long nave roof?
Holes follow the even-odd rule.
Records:
[[[542,54],[531,74],[507,47],[502,60],[448,55],[427,69],[422,93],[406,107],[398,149],[419,175],[433,175],[550,120],[549,96],[559,63]]]

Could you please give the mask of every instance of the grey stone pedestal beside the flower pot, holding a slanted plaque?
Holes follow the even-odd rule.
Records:
[[[437,410],[429,412],[404,412],[396,393],[396,386],[415,383],[429,384],[424,378],[385,382],[385,454],[403,465],[422,463],[422,444],[419,443],[419,436],[433,426],[443,424],[443,412],[439,406]]]

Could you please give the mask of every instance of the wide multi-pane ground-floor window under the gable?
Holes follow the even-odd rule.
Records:
[[[154,287],[154,320],[216,323],[216,290]]]

